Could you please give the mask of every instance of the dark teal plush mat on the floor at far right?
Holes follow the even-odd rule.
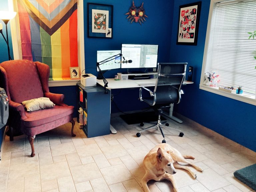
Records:
[[[235,171],[234,176],[256,191],[256,164]]]

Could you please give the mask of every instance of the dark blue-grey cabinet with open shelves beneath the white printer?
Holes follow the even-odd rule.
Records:
[[[83,108],[83,130],[88,138],[110,134],[110,91],[107,92],[101,86],[77,84],[78,103]]]

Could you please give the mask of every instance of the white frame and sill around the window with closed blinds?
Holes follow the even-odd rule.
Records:
[[[199,89],[209,91],[211,93],[215,93],[215,94],[222,95],[225,97],[229,97],[229,98],[232,98],[232,99],[235,99],[238,101],[242,101],[245,103],[249,103],[252,105],[256,105],[256,96],[255,95],[252,95],[251,97],[246,97],[246,96],[239,95],[236,93],[229,93],[229,92],[221,91],[218,89],[218,87],[209,87],[209,86],[203,84],[203,82],[205,80],[204,73],[205,73],[206,67],[207,67],[206,59],[207,59],[207,51],[208,51],[209,37],[210,37],[210,31],[211,31],[212,15],[213,15],[213,11],[216,7],[216,3],[223,2],[223,1],[227,1],[227,0],[211,0],[211,3],[210,3],[209,17],[208,17],[208,23],[207,23],[207,32],[206,32],[205,46],[204,46],[203,65],[202,65]],[[256,89],[256,85],[255,85],[255,89]]]

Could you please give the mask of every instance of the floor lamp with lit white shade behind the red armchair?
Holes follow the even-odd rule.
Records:
[[[16,16],[16,12],[13,11],[0,11],[0,19],[2,19],[2,21],[5,24],[5,30],[6,30],[6,38],[4,37],[3,34],[3,25],[2,23],[0,23],[0,33],[2,34],[6,44],[7,44],[7,48],[8,48],[8,57],[9,60],[12,60],[11,55],[10,55],[10,47],[9,47],[9,39],[8,39],[8,31],[7,31],[7,23]]]

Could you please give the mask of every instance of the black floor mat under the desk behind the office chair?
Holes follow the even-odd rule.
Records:
[[[132,113],[120,115],[120,117],[128,124],[139,124],[141,122],[153,122],[158,120],[158,115],[155,112],[144,112],[144,113]],[[166,120],[166,118],[161,116],[161,120]]]

